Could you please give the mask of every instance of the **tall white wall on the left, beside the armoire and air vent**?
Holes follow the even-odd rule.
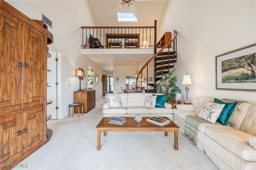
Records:
[[[74,91],[79,89],[79,79],[74,76],[75,70],[82,68],[87,72],[89,65],[94,68],[94,76],[103,74],[98,65],[80,54],[81,26],[95,25],[88,2],[79,0],[6,0],[6,2],[31,19],[41,20],[41,13],[43,13],[53,22],[53,28],[48,28],[48,30],[54,36],[54,43],[48,47],[62,53],[62,82],[59,82],[59,85],[62,86],[62,106],[60,107],[63,112],[58,115],[58,119],[62,119],[68,115],[68,104],[74,102]],[[69,56],[65,57],[65,53]],[[87,76],[81,81],[81,87],[85,86],[85,82],[87,82]],[[96,99],[100,98],[102,84],[95,83],[94,89],[96,89]]]

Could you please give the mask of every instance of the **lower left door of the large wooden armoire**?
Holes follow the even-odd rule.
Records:
[[[1,163],[11,163],[22,154],[21,120],[22,113],[16,113],[5,117],[0,117]]]

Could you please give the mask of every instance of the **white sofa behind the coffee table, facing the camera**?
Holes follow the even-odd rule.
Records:
[[[141,114],[142,117],[168,117],[172,120],[172,105],[164,103],[163,107],[144,107],[147,96],[163,95],[161,93],[109,93],[108,102],[103,105],[104,117],[134,117]],[[120,96],[123,107],[110,107],[109,97]]]

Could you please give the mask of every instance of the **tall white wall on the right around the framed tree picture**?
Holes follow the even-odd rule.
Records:
[[[188,99],[195,95],[256,103],[255,92],[215,89],[215,56],[256,42],[256,1],[170,1],[161,35],[178,31],[177,85],[186,98],[183,76],[192,79]]]

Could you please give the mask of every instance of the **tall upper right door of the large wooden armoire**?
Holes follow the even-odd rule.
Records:
[[[24,24],[23,49],[23,106],[42,105],[44,101],[44,69],[46,60],[46,40],[42,32]]]

